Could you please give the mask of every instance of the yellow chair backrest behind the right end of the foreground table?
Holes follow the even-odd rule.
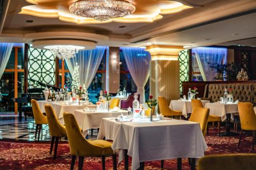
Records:
[[[200,124],[200,128],[204,136],[207,129],[207,120],[209,117],[209,113],[210,113],[210,109],[208,108],[196,107],[193,109],[189,118],[189,121],[197,122]]]

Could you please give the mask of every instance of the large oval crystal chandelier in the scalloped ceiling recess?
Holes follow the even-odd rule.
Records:
[[[135,9],[132,3],[116,0],[78,1],[69,6],[69,10],[75,15],[100,21],[130,15]]]

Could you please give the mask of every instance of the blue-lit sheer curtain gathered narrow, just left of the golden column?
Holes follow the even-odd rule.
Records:
[[[140,94],[140,103],[145,102],[144,87],[150,77],[151,55],[143,48],[121,47],[125,63]]]

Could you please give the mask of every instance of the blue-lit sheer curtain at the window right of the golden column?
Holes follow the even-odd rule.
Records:
[[[211,70],[210,65],[215,63],[221,64],[223,58],[226,61],[227,48],[197,47],[192,49],[192,54],[195,54],[203,80],[213,81],[216,72]]]

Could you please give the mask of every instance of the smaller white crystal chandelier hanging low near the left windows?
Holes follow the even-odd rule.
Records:
[[[48,45],[45,48],[50,50],[54,57],[64,60],[75,57],[78,51],[84,47],[77,45]]]

